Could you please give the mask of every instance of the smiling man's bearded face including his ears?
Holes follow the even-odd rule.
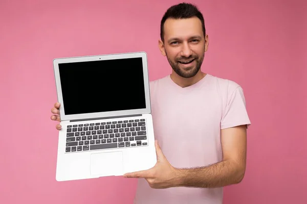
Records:
[[[194,77],[201,68],[208,48],[202,22],[197,17],[168,18],[164,23],[164,43],[159,42],[161,53],[172,69],[183,78]]]

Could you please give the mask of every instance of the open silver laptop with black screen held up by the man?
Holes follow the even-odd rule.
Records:
[[[62,126],[57,181],[155,166],[145,52],[59,58],[53,65]]]

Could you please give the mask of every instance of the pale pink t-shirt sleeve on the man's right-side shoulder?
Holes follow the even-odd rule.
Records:
[[[221,120],[221,129],[251,124],[246,110],[246,101],[242,87],[238,86],[227,97],[226,107]]]

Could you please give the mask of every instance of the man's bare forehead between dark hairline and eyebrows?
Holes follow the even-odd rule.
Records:
[[[202,22],[197,17],[168,18],[164,23],[164,37],[166,38],[189,38],[195,35],[203,35]]]

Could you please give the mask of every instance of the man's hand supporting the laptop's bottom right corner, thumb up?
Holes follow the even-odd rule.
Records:
[[[178,184],[177,169],[167,161],[158,144],[155,142],[157,163],[154,167],[144,171],[126,173],[127,178],[144,178],[151,188],[162,189],[176,187]]]

